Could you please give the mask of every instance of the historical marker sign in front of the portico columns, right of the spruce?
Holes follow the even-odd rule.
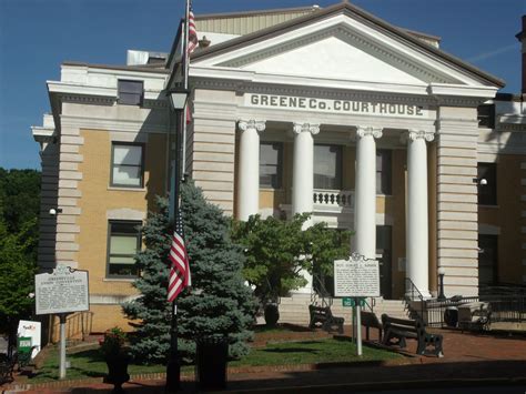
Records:
[[[334,295],[380,296],[380,265],[377,260],[364,260],[352,254],[348,260],[334,262]]]

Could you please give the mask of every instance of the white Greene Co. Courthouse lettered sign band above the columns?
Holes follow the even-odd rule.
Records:
[[[353,113],[384,117],[428,117],[428,110],[423,105],[393,104],[374,101],[316,99],[275,94],[245,94],[245,105],[256,108],[272,108],[277,110]]]

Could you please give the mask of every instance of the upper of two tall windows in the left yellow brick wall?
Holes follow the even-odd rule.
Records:
[[[144,173],[143,145],[113,143],[111,153],[111,185],[142,188]]]

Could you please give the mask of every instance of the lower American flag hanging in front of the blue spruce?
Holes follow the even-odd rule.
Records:
[[[178,212],[175,219],[175,231],[172,236],[172,245],[169,255],[171,266],[168,283],[168,301],[173,302],[181,291],[189,286],[190,283],[190,265],[184,245],[183,222],[181,211]]]

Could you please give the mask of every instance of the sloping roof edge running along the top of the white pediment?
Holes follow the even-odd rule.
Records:
[[[494,75],[492,75],[492,74],[489,74],[489,73],[487,73],[487,72],[485,72],[485,71],[483,71],[483,70],[481,70],[481,69],[478,69],[478,68],[476,68],[476,67],[474,67],[469,63],[466,63],[465,61],[456,58],[453,54],[449,54],[449,53],[447,53],[447,52],[445,52],[441,49],[437,49],[437,48],[435,48],[431,44],[427,44],[427,43],[423,42],[422,40],[419,40],[419,39],[415,38],[414,36],[412,36],[406,30],[397,28],[397,27],[384,21],[383,19],[380,19],[380,18],[368,13],[367,11],[364,11],[363,9],[361,9],[356,6],[348,3],[348,1],[334,4],[334,6],[325,8],[325,9],[320,9],[318,11],[311,12],[310,14],[306,14],[304,17],[295,18],[295,19],[289,20],[286,22],[283,22],[283,23],[279,23],[279,24],[269,27],[269,28],[263,29],[263,30],[254,31],[253,33],[250,33],[250,34],[242,36],[242,37],[239,37],[239,38],[219,43],[216,46],[205,48],[201,51],[196,51],[196,52],[192,53],[191,59],[209,58],[209,57],[215,55],[218,53],[223,53],[223,52],[230,51],[232,49],[237,49],[237,48],[244,47],[246,44],[252,44],[252,43],[265,40],[267,38],[281,34],[284,31],[294,30],[299,27],[310,24],[310,23],[318,21],[318,20],[331,18],[332,16],[337,14],[337,13],[353,14],[353,16],[356,16],[356,17],[363,19],[365,22],[373,23],[377,27],[381,27],[381,28],[385,29],[386,31],[388,31],[391,33],[394,33],[395,36],[408,41],[409,43],[412,43],[412,44],[414,44],[414,46],[416,46],[416,47],[418,47],[418,48],[421,48],[421,49],[423,49],[427,52],[431,52],[432,54],[434,54],[438,58],[442,58],[442,59],[444,59],[444,60],[446,60],[446,61],[448,61],[448,62],[451,62],[455,65],[458,65],[458,67],[463,68],[464,70],[475,74],[477,78],[479,78],[479,79],[482,79],[486,82],[489,82],[489,83],[492,83],[492,84],[494,84],[498,88],[503,88],[506,84],[502,79],[499,79],[497,77],[494,77]]]

